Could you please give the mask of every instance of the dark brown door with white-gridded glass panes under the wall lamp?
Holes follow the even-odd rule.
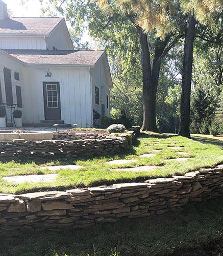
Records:
[[[60,83],[43,82],[45,120],[61,120]]]

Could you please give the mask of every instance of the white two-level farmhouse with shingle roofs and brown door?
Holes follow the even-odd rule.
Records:
[[[0,104],[22,123],[93,126],[110,116],[112,79],[105,51],[73,50],[64,18],[9,18],[0,0]],[[8,117],[8,119],[10,119]]]

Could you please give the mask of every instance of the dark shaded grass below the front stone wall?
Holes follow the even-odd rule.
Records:
[[[155,218],[2,239],[1,256],[222,255],[223,198]],[[183,254],[184,253],[184,254]]]

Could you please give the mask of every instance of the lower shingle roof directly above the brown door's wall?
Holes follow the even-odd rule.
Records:
[[[3,50],[28,64],[92,66],[104,51]]]

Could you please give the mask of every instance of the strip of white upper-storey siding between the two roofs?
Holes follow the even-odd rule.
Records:
[[[46,41],[44,37],[1,36],[0,49],[46,50]]]

